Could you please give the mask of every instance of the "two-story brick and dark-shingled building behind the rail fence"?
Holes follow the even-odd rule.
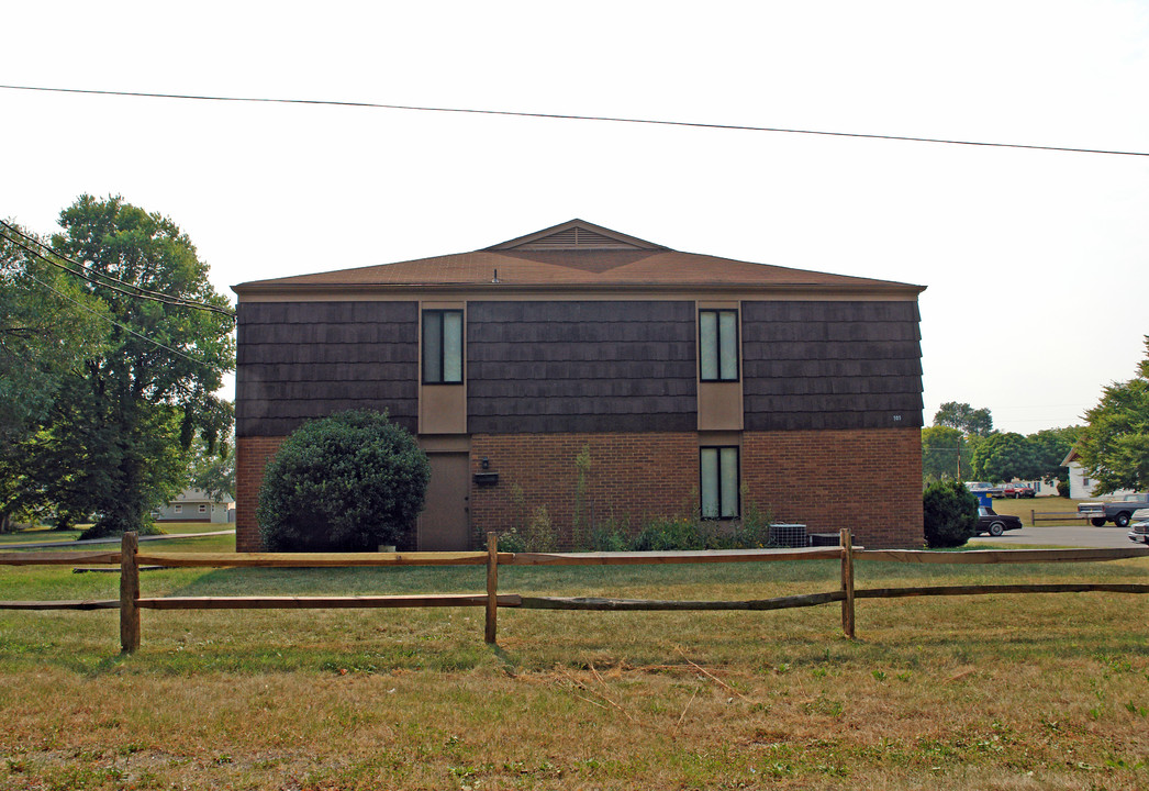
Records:
[[[923,286],[681,253],[574,220],[486,249],[244,283],[237,548],[303,421],[386,409],[431,461],[407,548],[545,506],[638,529],[753,502],[920,546]]]

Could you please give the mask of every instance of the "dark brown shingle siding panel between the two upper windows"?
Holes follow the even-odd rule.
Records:
[[[473,433],[689,431],[694,302],[471,302]]]

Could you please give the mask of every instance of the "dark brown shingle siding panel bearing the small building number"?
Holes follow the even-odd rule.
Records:
[[[916,302],[742,305],[746,430],[921,425]]]

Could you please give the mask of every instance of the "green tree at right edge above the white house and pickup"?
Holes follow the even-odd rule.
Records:
[[[1136,376],[1105,387],[1085,414],[1075,447],[1097,494],[1149,489],[1149,336],[1144,345]]]

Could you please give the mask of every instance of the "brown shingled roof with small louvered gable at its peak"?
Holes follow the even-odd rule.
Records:
[[[232,286],[240,294],[371,286],[769,287],[895,290],[925,286],[681,253],[584,220],[571,220],[471,253],[339,269]]]

